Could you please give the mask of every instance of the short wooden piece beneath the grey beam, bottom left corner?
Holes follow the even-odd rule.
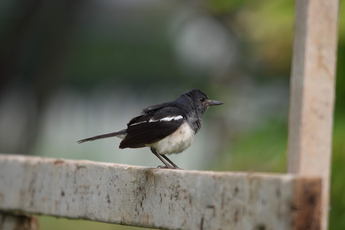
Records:
[[[38,230],[38,219],[0,213],[0,230]]]

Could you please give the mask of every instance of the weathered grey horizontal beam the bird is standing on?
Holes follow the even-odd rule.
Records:
[[[304,196],[306,184],[313,183]],[[0,211],[160,229],[301,229],[321,179],[0,154]],[[309,198],[316,200],[309,203]],[[312,229],[312,228],[303,228]],[[314,228],[313,228],[314,229]]]

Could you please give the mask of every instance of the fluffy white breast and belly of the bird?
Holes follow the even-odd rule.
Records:
[[[190,146],[194,139],[194,135],[193,130],[185,122],[166,138],[147,146],[154,147],[161,155],[181,153]]]

